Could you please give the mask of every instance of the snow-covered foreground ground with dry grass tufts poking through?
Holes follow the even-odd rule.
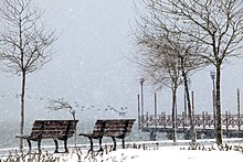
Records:
[[[135,148],[134,148],[135,147]],[[106,147],[103,153],[94,152],[87,154],[87,149],[70,148],[70,153],[42,153],[20,156],[20,160],[28,161],[46,161],[55,160],[56,162],[161,162],[161,161],[178,161],[178,162],[242,162],[243,161],[243,147],[241,143],[224,145],[219,148],[216,144],[197,147],[197,150],[191,150],[189,145],[168,145],[159,147],[158,143],[149,145],[145,144],[130,144],[127,149],[117,149],[109,151],[110,148]],[[13,151],[14,152],[14,151]],[[49,151],[52,152],[52,151]],[[12,158],[17,159],[17,154],[12,153]],[[0,156],[7,159],[9,156]]]

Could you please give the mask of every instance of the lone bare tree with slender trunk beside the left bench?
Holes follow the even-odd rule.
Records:
[[[3,71],[21,75],[20,134],[24,130],[24,96],[27,75],[51,61],[53,31],[46,31],[41,22],[42,11],[32,0],[3,0],[0,18],[0,61]],[[20,149],[23,140],[20,140]]]

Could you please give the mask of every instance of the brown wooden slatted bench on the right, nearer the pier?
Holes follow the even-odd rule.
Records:
[[[110,137],[116,150],[116,138],[122,139],[123,149],[125,149],[125,138],[130,134],[135,119],[108,119],[97,120],[92,133],[80,133],[78,136],[87,137],[91,141],[91,149],[93,151],[93,139],[99,140],[99,151],[103,151],[102,139],[103,137]]]

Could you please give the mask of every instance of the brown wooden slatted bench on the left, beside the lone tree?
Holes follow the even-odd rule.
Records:
[[[29,153],[31,153],[31,141],[38,142],[38,150],[41,153],[41,140],[53,139],[55,143],[54,153],[59,153],[57,140],[64,141],[65,152],[67,150],[67,139],[73,137],[78,120],[35,120],[30,136],[17,136],[28,141]]]

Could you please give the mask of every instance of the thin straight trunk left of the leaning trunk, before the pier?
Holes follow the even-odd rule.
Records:
[[[173,86],[172,88],[172,140],[177,142],[177,112],[176,112],[176,105],[177,105],[177,87]]]

